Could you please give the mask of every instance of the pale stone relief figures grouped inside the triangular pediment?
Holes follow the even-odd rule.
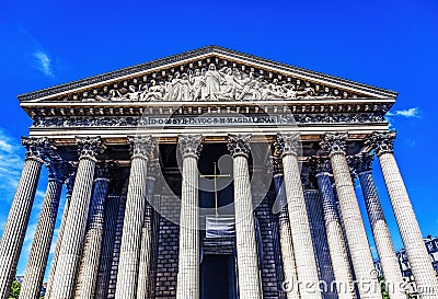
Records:
[[[245,73],[237,68],[210,64],[208,69],[174,72],[165,80],[151,79],[148,83],[130,84],[120,92],[111,89],[106,95],[96,95],[97,101],[244,101],[244,100],[293,100],[339,97],[314,88],[296,87],[292,82],[274,78],[268,82],[254,71]]]

